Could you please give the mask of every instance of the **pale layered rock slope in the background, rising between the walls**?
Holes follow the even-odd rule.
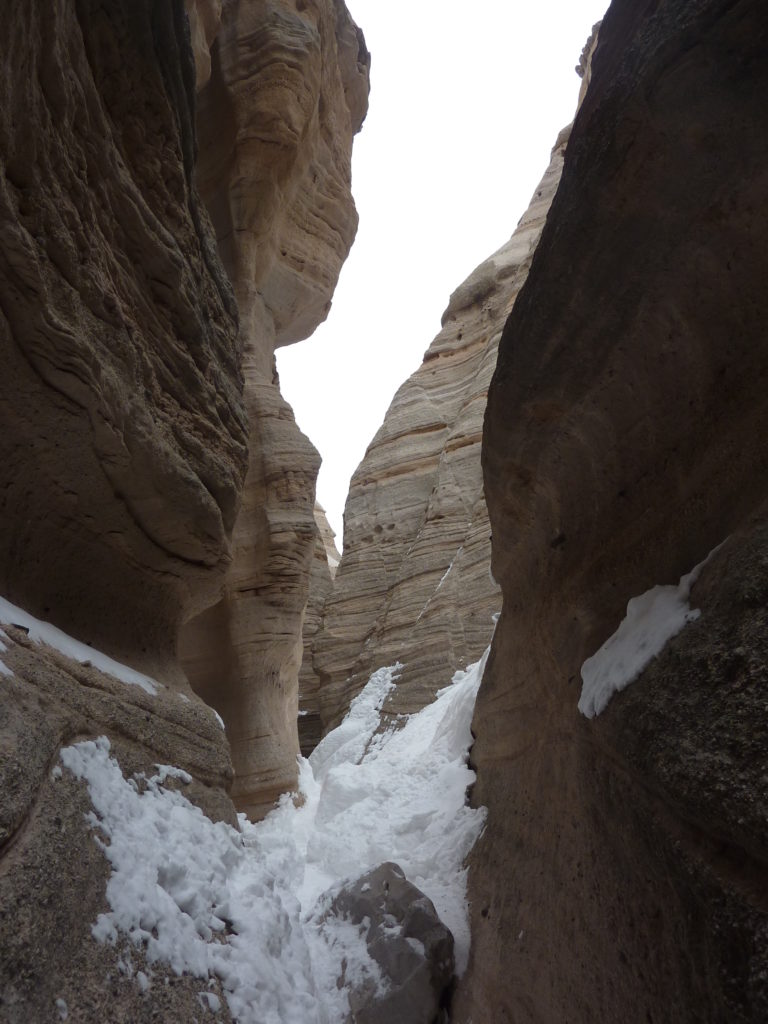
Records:
[[[488,572],[482,417],[501,331],[557,188],[567,136],[560,133],[510,241],[452,295],[441,332],[352,477],[344,552],[313,645],[325,730],[376,669],[403,663],[387,710],[408,714],[490,640],[501,595]]]

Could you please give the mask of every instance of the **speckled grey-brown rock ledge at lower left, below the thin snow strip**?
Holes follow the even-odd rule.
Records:
[[[65,1011],[83,1024],[194,1019],[200,979],[163,965],[150,970],[129,943],[93,938],[111,866],[89,824],[87,788],[61,772],[58,756],[106,736],[127,776],[178,766],[193,777],[184,796],[213,820],[236,824],[224,730],[196,697],[162,685],[150,695],[33,643],[24,630],[4,626],[2,645],[10,674],[0,676],[0,1019],[63,1020]],[[153,977],[150,992],[139,970]],[[229,1020],[225,1006],[223,1013]]]

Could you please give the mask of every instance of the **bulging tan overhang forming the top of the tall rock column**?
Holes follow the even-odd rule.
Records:
[[[357,226],[349,165],[369,65],[336,0],[224,6],[198,175],[247,339],[266,316],[290,344],[328,314]]]

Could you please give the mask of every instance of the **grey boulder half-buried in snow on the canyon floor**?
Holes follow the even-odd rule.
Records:
[[[347,1024],[433,1024],[454,974],[454,937],[432,901],[384,863],[342,889],[329,913],[368,928],[368,951],[388,987],[378,997],[353,992]]]

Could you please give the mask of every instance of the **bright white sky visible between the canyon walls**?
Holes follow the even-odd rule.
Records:
[[[278,352],[323,456],[337,544],[349,478],[451,293],[513,232],[572,119],[607,0],[347,0],[372,53],[352,158],[360,225],[326,324]]]

